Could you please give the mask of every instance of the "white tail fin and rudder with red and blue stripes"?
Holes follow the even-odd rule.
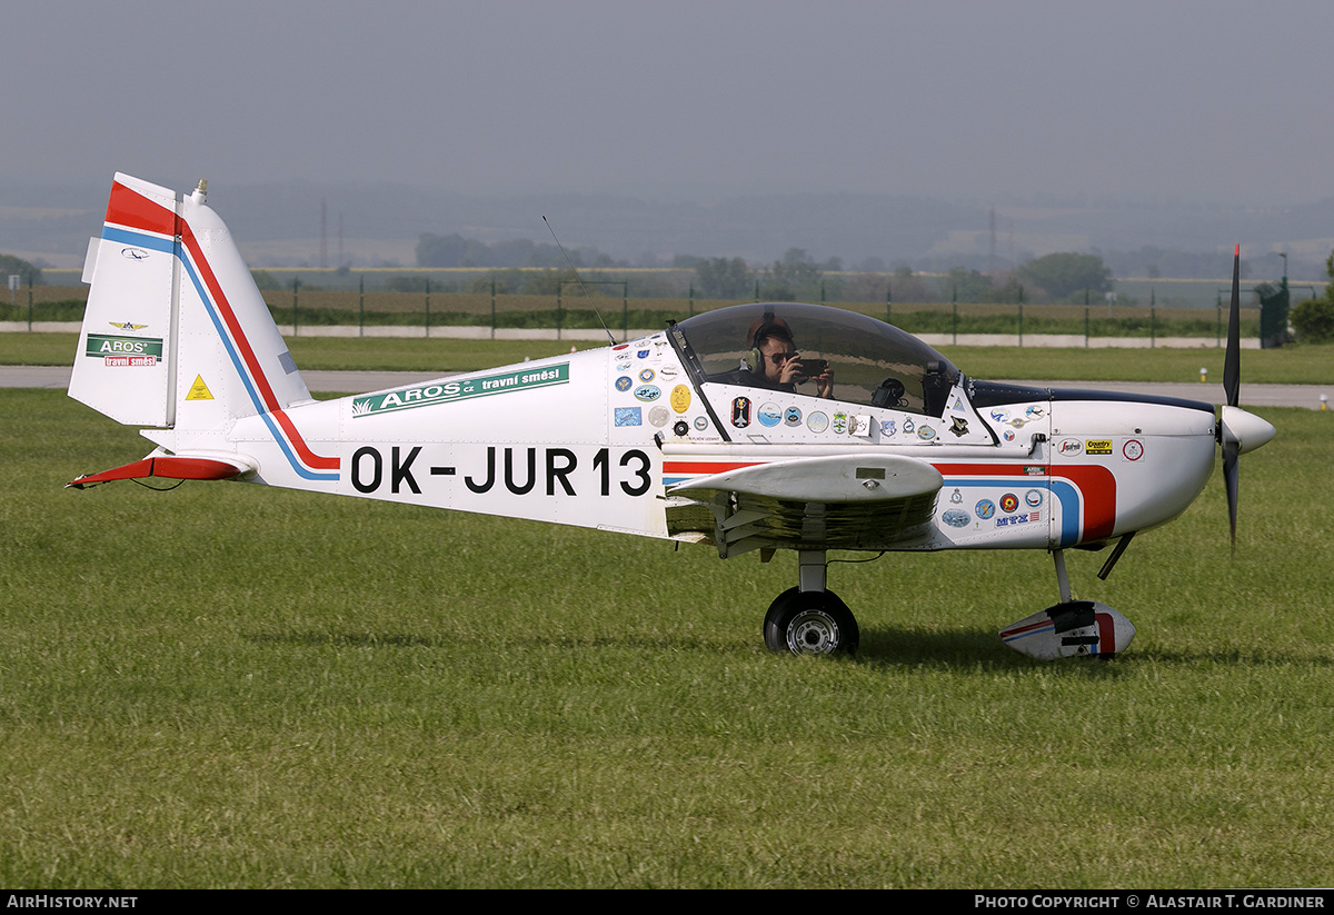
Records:
[[[193,193],[116,175],[69,396],[167,448],[311,399],[227,227]],[[205,441],[199,441],[205,444]]]

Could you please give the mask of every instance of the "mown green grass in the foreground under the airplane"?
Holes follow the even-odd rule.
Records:
[[[243,484],[0,392],[0,886],[1274,887],[1334,872],[1329,413],[1077,595],[1042,552],[834,566],[854,659],[768,655],[780,554]],[[855,558],[839,555],[838,558]]]

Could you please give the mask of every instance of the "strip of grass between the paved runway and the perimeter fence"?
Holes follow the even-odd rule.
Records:
[[[0,333],[0,365],[69,365],[76,339],[68,333]],[[451,340],[419,337],[296,337],[288,340],[303,369],[476,371],[600,345],[588,340]],[[1223,377],[1223,351],[1205,349],[1046,349],[940,347],[978,379],[1087,381],[1198,381]],[[1247,349],[1242,377],[1262,384],[1334,381],[1334,344]]]

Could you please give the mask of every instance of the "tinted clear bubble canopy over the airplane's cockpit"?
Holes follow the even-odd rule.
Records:
[[[847,403],[939,415],[942,383],[959,369],[939,352],[896,327],[852,311],[790,301],[760,301],[695,315],[672,336],[699,383],[746,384],[746,355],[755,332],[786,324],[802,359],[824,359],[834,371],[834,397]],[[902,391],[895,385],[902,385]],[[892,400],[886,403],[886,391]],[[815,395],[812,383],[798,393]]]

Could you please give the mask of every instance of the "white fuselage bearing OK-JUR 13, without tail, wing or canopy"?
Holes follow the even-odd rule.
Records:
[[[860,547],[1058,548],[1179,515],[1213,470],[1215,423],[1202,407],[1043,396],[979,409],[958,385],[934,417],[695,385],[659,333],[292,407],[300,447],[264,416],[237,420],[225,443],[211,444],[255,459],[255,482],[272,486],[684,540],[708,536],[668,524],[668,491],[679,483],[891,452],[943,476],[932,523],[911,539]],[[303,455],[328,468],[312,470]]]

